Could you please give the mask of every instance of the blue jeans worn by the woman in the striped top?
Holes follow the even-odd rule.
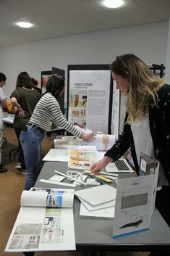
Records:
[[[20,134],[20,142],[24,152],[27,176],[25,190],[29,190],[35,185],[39,174],[39,164],[41,160],[41,141],[45,136],[45,131],[38,127],[28,126],[27,131]]]

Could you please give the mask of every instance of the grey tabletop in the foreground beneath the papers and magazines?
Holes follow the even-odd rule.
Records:
[[[45,162],[41,170],[36,187],[56,188],[54,184],[41,183],[41,178],[48,179],[54,175],[54,170],[66,172],[69,170],[68,162]],[[124,173],[120,178],[127,178],[131,174]],[[64,180],[64,182],[68,182]],[[114,184],[114,183],[113,183]],[[61,186],[59,186],[62,188]],[[63,187],[66,188],[66,187]],[[84,188],[86,188],[84,186]],[[77,189],[84,189],[77,186]],[[161,217],[157,209],[153,212],[150,223],[150,230],[137,234],[122,236],[112,239],[113,220],[101,218],[80,218],[79,217],[80,202],[75,199],[74,202],[74,221],[75,221],[75,242],[77,250],[85,252],[89,251],[90,255],[96,250],[103,253],[106,251],[151,251],[170,249],[170,228]]]

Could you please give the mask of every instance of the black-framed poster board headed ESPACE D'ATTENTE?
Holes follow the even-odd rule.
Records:
[[[115,97],[119,97],[119,94],[115,94]],[[112,101],[113,79],[109,65],[68,65],[69,121],[83,123],[93,132],[110,134]],[[119,113],[118,103],[116,113]],[[119,123],[119,115],[115,115],[114,122]],[[112,131],[119,134],[118,128],[119,125]]]

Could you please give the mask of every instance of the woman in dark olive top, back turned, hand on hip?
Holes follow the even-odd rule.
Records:
[[[11,94],[12,106],[17,109],[14,116],[14,131],[17,135],[20,155],[17,161],[17,172],[25,173],[25,160],[22,152],[22,146],[20,144],[20,133],[22,128],[30,120],[33,110],[38,100],[41,98],[41,94],[35,90],[31,81],[30,75],[27,72],[21,72],[17,77],[16,89]]]

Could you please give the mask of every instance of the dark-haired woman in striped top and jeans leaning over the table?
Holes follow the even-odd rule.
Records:
[[[46,94],[44,94],[38,104],[36,104],[33,115],[29,123],[20,135],[20,142],[25,156],[25,164],[27,167],[27,176],[25,189],[29,190],[34,186],[38,177],[39,162],[41,160],[41,141],[43,140],[49,123],[52,122],[56,126],[63,127],[69,133],[82,139],[93,140],[92,133],[81,133],[72,123],[67,122],[62,115],[59,103],[56,97],[64,93],[65,80],[63,77],[52,75],[46,84]],[[80,123],[75,123],[81,128]]]

